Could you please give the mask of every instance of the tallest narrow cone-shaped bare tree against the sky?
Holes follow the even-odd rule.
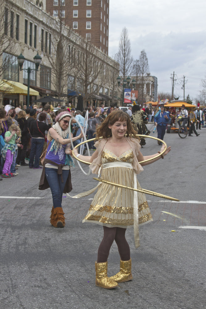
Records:
[[[131,75],[133,63],[131,45],[126,27],[124,27],[121,32],[117,60],[120,64],[120,75],[125,79],[127,76]]]

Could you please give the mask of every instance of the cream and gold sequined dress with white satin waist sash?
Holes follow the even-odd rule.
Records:
[[[133,171],[133,151],[125,151],[120,157],[104,149],[102,158],[101,179],[135,188]],[[137,187],[141,189],[137,181]],[[145,194],[137,193],[139,224],[153,221]],[[131,227],[133,219],[134,191],[99,183],[98,191],[91,202],[89,211],[82,222],[93,222],[108,227]]]

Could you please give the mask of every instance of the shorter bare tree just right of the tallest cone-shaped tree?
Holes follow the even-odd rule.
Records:
[[[146,83],[149,81],[149,64],[147,54],[144,49],[141,50],[139,59],[134,62],[133,70],[138,74],[137,90],[138,90],[138,103],[144,103],[146,96]]]

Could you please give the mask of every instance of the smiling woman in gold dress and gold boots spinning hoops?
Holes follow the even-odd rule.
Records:
[[[141,189],[136,180],[136,174],[143,171],[141,165],[153,163],[159,158],[152,159],[158,154],[150,156],[141,154],[139,139],[132,138],[132,135],[136,134],[127,113],[112,112],[97,128],[98,141],[95,143],[96,151],[93,155],[80,155],[77,149],[74,149],[74,155],[80,160],[91,163],[92,173],[98,173],[100,168],[103,180]],[[103,138],[100,139],[100,137]],[[164,147],[162,146],[162,151]],[[167,148],[164,155],[169,151],[170,147]],[[141,165],[138,163],[146,159],[151,160]],[[132,279],[130,248],[125,238],[125,232],[127,227],[134,226],[135,244],[138,247],[138,220],[139,224],[152,221],[144,193],[137,194],[137,192],[126,188],[99,183],[98,191],[83,220],[83,222],[100,224],[104,230],[103,240],[99,245],[98,257],[95,262],[95,283],[97,286],[112,289],[118,285],[117,282]],[[120,253],[120,272],[112,277],[107,277],[107,258],[114,240]]]

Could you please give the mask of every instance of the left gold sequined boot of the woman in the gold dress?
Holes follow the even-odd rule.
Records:
[[[107,277],[107,262],[97,263],[95,262],[95,270],[96,270],[96,286],[100,286],[104,289],[113,289],[118,286],[114,280]]]

